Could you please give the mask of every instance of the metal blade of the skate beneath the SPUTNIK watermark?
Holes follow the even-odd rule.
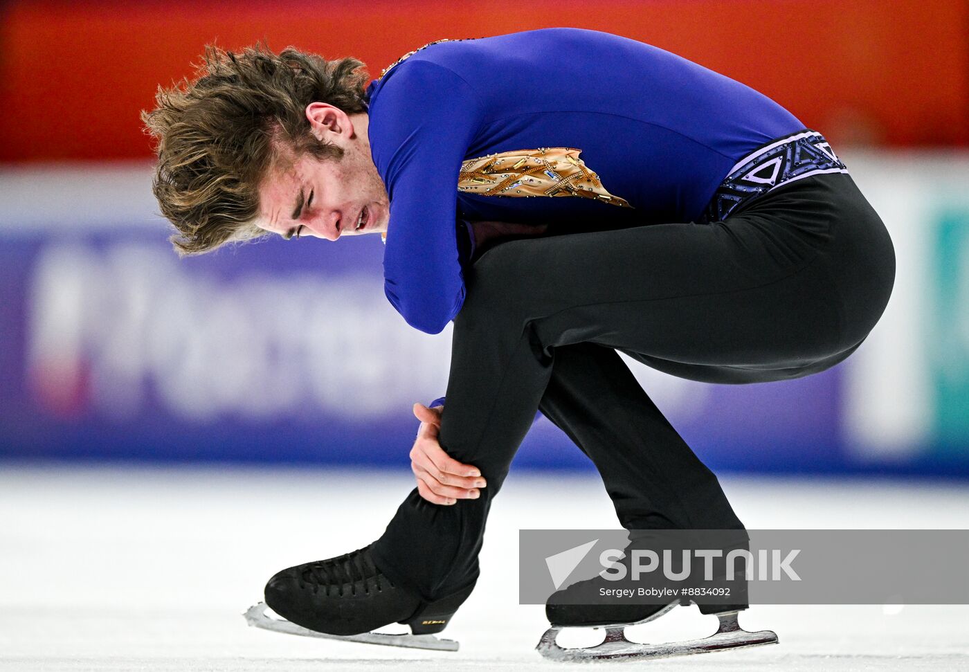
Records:
[[[639,644],[626,639],[624,626],[606,627],[606,641],[585,649],[565,649],[555,643],[561,627],[550,627],[535,647],[543,657],[559,662],[590,662],[593,660],[635,660],[709,654],[714,651],[742,649],[776,644],[777,635],[770,630],[748,632],[736,622],[736,612],[717,614],[720,627],[709,637],[664,644]]]

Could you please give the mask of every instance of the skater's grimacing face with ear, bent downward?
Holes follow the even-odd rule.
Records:
[[[271,168],[260,185],[257,226],[287,239],[387,231],[390,199],[370,156],[367,115],[312,103],[306,117],[313,135],[342,148],[343,157],[297,157],[283,149],[282,165]]]

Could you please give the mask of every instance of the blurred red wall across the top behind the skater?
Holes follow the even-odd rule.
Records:
[[[372,76],[441,38],[566,25],[670,49],[749,84],[836,144],[969,145],[965,0],[626,0],[595,3],[7,3],[0,161],[151,155],[139,110],[193,72],[206,43],[264,39]]]

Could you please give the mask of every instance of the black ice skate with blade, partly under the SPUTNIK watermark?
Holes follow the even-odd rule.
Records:
[[[629,567],[629,554],[623,559],[623,564]],[[721,577],[719,584],[728,585],[723,579],[723,565],[715,565],[715,571]],[[741,570],[742,571],[742,570]],[[615,589],[620,586],[638,588],[630,583],[617,583],[597,576],[586,581],[579,581],[548,597],[546,616],[551,625],[542,635],[536,649],[543,657],[565,662],[582,662],[590,660],[634,659],[646,657],[672,657],[703,654],[714,651],[727,651],[743,647],[776,644],[777,635],[770,630],[748,632],[737,624],[737,614],[747,608],[747,584],[737,575],[737,580],[729,582],[733,591],[732,599],[721,598],[719,601],[710,599],[682,596],[683,584],[669,581],[653,582],[652,588],[668,589],[671,596],[657,597],[652,602],[641,601],[610,601],[605,602],[600,596],[600,589]],[[688,584],[695,588],[695,584]],[[672,592],[673,590],[676,592]],[[699,601],[698,601],[699,600]],[[641,644],[626,639],[625,628],[649,623],[672,611],[682,604],[688,606],[695,603],[704,615],[716,615],[720,620],[717,631],[709,637],[682,642],[667,642],[661,644]],[[594,647],[566,649],[556,643],[558,633],[565,627],[593,627],[606,628],[606,638]]]

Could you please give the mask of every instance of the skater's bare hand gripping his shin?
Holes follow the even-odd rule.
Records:
[[[438,443],[443,412],[443,407],[414,405],[414,415],[421,420],[418,438],[411,448],[411,470],[418,479],[418,492],[431,504],[476,500],[481,496],[479,488],[485,487],[485,479],[477,468],[461,464]]]

